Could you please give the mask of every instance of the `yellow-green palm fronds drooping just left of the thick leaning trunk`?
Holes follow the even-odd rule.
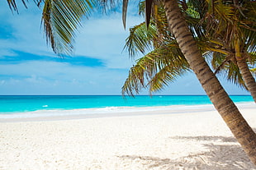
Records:
[[[144,4],[140,2],[140,13],[144,12]],[[130,57],[138,52],[145,56],[130,68],[122,94],[133,95],[133,91],[138,94],[146,87],[149,87],[151,94],[155,90],[161,90],[184,72],[191,71],[176,40],[169,34],[164,8],[158,7],[153,17],[154,20],[148,26],[143,22],[130,28],[125,48],[128,49]],[[145,54],[147,51],[151,52]]]

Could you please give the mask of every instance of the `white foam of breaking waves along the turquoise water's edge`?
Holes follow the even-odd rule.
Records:
[[[240,106],[255,106],[254,103],[236,103]],[[107,108],[82,108],[73,110],[38,110],[34,112],[26,113],[11,113],[0,114],[0,119],[8,118],[26,118],[26,117],[59,117],[59,116],[75,116],[75,115],[88,115],[88,114],[109,114],[109,113],[149,113],[162,111],[162,113],[186,113],[188,110],[190,113],[203,112],[207,110],[213,110],[212,104],[203,105],[171,105],[171,106],[159,106],[159,107],[107,107]]]

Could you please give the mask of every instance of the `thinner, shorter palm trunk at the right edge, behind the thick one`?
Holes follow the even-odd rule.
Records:
[[[237,66],[241,71],[241,75],[243,77],[244,83],[249,90],[250,94],[254,98],[254,102],[256,103],[256,82],[254,76],[252,75],[251,71],[249,71],[249,67],[244,58],[236,58]]]

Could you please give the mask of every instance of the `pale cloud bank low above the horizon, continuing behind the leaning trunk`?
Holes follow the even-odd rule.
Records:
[[[0,65],[0,94],[121,94],[128,71],[104,67],[74,67],[59,62]],[[225,80],[222,80],[225,82]],[[224,83],[229,94],[248,94]],[[147,94],[143,90],[141,94]],[[157,94],[205,94],[196,76],[188,73]]]

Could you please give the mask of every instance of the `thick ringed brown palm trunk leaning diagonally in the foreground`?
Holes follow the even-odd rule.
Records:
[[[239,113],[235,103],[230,99],[220,85],[219,80],[211,71],[204,58],[197,48],[197,44],[192,37],[192,33],[187,27],[182,11],[178,7],[176,0],[164,0],[164,8],[168,18],[168,26],[177,39],[179,48],[181,48],[192,70],[197,75],[201,86],[211,99],[216,110],[224,119],[230,131],[242,145],[249,159],[256,165],[256,134]]]

